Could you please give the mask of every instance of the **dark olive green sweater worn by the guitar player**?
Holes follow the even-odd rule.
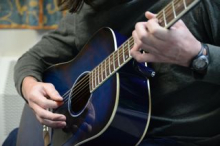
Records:
[[[80,12],[68,14],[59,28],[20,57],[15,66],[15,85],[21,93],[22,80],[33,76],[42,81],[50,65],[74,58],[100,28],[131,36],[144,12],[157,13],[170,0],[96,0]],[[203,0],[182,19],[201,42],[209,44],[211,62],[202,78],[190,68],[152,64],[156,76],[150,79],[152,119],[148,137],[172,137],[195,143],[220,143],[220,0]]]

